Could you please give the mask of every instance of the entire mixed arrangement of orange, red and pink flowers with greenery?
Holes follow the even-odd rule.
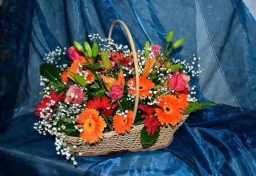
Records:
[[[144,49],[137,51],[136,114],[137,82],[128,46],[92,34],[88,36],[92,45],[85,41],[83,47],[75,41],[69,49],[57,47],[46,54],[47,63],[40,66],[43,100],[35,109],[39,121],[34,128],[56,136],[57,153],[77,164],[65,136],[97,145],[106,132],[123,135],[143,124],[141,142],[149,144],[158,138],[160,126],[176,126],[184,114],[213,105],[198,102],[195,85],[189,82],[201,72],[195,64],[200,58],[193,55],[192,62],[186,63],[170,56],[184,42],[179,38],[172,43],[173,34],[168,32],[164,49],[146,41]]]

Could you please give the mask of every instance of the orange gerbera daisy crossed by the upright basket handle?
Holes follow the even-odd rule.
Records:
[[[129,94],[135,94],[136,81],[135,78],[131,78],[126,84]],[[139,76],[139,98],[151,96],[150,89],[155,88],[155,84],[151,79],[147,79],[146,76]]]

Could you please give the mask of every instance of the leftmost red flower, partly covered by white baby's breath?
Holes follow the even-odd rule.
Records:
[[[44,97],[41,102],[39,102],[38,105],[36,105],[35,113],[36,116],[40,117],[40,113],[43,112],[44,114],[49,113],[48,110],[46,110],[47,107],[51,108],[52,111],[56,108],[56,105],[65,99],[64,91],[61,92],[59,95],[56,94],[55,91],[52,91],[50,93],[50,97]],[[51,105],[52,102],[55,102],[53,105]]]

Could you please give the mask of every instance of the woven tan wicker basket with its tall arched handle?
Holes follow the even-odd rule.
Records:
[[[134,68],[135,68],[135,79],[136,79],[136,98],[134,105],[134,119],[138,109],[139,102],[139,74],[138,74],[138,58],[135,50],[135,45],[131,33],[127,28],[126,24],[121,20],[115,20],[109,29],[109,38],[111,38],[113,26],[120,23],[125,29],[127,36],[130,41],[131,50],[133,52],[134,58]],[[72,148],[72,154],[80,156],[90,156],[90,155],[100,155],[118,152],[136,152],[136,151],[146,151],[151,149],[160,149],[167,147],[171,144],[174,139],[174,132],[183,125],[185,119],[188,115],[184,115],[181,122],[176,126],[162,126],[160,127],[160,134],[158,138],[151,144],[143,145],[141,142],[141,130],[144,124],[134,126],[129,134],[119,135],[115,131],[106,132],[104,138],[96,144],[84,143],[81,138],[65,136],[65,142],[67,147]],[[73,146],[76,145],[76,148]]]

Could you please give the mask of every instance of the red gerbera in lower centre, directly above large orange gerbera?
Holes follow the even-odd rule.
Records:
[[[93,98],[93,100],[89,100],[87,104],[87,108],[96,109],[105,117],[108,117],[113,113],[113,109],[111,107],[110,101],[106,96],[103,96],[102,100],[100,97]]]

